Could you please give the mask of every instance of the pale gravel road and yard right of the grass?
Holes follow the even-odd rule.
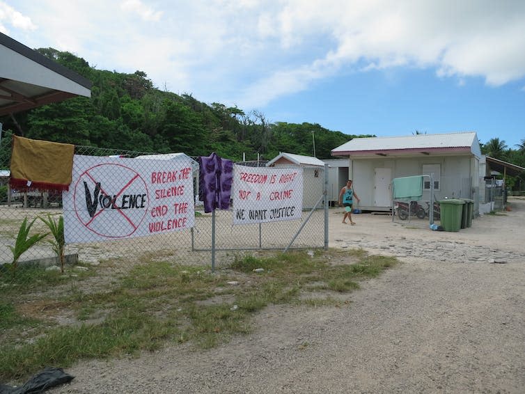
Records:
[[[207,351],[87,361],[53,393],[524,393],[525,200],[458,233],[331,210],[330,246],[397,255],[340,308],[273,306]]]

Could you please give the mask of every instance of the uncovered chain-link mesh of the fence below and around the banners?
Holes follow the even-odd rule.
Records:
[[[144,155],[143,152],[130,152],[123,150],[93,148],[76,146],[75,154],[87,156],[119,156],[135,158]],[[0,146],[0,168],[8,168],[10,158],[10,139],[4,137]],[[196,158],[194,158],[196,159]],[[118,161],[118,159],[113,159]],[[146,160],[143,161],[146,163]],[[147,164],[144,164],[147,165]],[[315,203],[304,204],[304,212],[300,220],[278,221],[272,223],[253,223],[233,225],[233,208],[217,210],[214,214],[203,212],[202,205],[195,205],[195,223],[191,229],[159,233],[145,237],[119,239],[114,241],[78,242],[65,245],[65,255],[70,260],[97,264],[103,260],[113,260],[118,264],[130,264],[148,260],[152,255],[158,259],[166,259],[182,264],[210,264],[212,259],[212,238],[214,237],[217,254],[217,263],[229,262],[235,256],[235,251],[246,249],[285,249],[293,240],[292,248],[322,247],[324,246],[324,213],[322,209],[323,198],[323,169],[316,168],[315,176],[308,178],[304,183],[306,200],[320,202],[317,210],[309,212]],[[5,181],[5,179],[4,179]],[[5,184],[5,182],[4,182]],[[194,180],[197,187],[198,181]],[[315,196],[311,191],[315,191]],[[28,194],[11,191],[10,194],[0,194],[0,264],[13,260],[13,255],[8,246],[15,242],[19,227],[27,218],[36,221],[31,228],[31,233],[47,233],[49,229],[38,218],[47,215],[54,219],[59,216],[72,215],[74,212],[64,211],[61,194],[45,193],[38,190]],[[306,219],[308,218],[308,221]],[[214,225],[214,227],[213,227]],[[214,233],[212,232],[214,228]],[[299,231],[300,230],[300,231]],[[47,240],[51,237],[47,236]],[[31,262],[56,265],[55,253],[52,246],[45,242],[46,239],[31,246],[20,258],[22,265]],[[1,271],[0,271],[1,272]]]

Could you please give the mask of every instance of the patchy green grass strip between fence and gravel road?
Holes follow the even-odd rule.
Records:
[[[349,301],[341,299],[343,294],[396,261],[362,250],[293,251],[237,257],[229,267],[212,272],[145,255],[103,290],[83,285],[94,280],[91,269],[72,283],[68,271],[61,275],[19,267],[15,283],[2,288],[8,289],[10,300],[0,304],[0,328],[6,331],[0,338],[15,338],[21,331],[26,336],[1,341],[0,381],[22,379],[50,364],[66,368],[81,358],[139,354],[166,342],[214,347],[230,336],[249,333],[253,314],[270,304],[345,306]],[[257,268],[263,271],[253,271]],[[17,314],[20,296],[28,299],[31,294],[40,304],[26,308],[29,316]],[[37,307],[40,315],[31,316]],[[68,316],[74,324],[58,324],[57,315]],[[31,319],[40,324],[32,337]]]

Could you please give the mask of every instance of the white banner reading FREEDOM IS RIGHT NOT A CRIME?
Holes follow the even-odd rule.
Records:
[[[301,219],[303,169],[233,166],[233,224]]]

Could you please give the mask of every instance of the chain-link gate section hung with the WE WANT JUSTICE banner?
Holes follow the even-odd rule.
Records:
[[[324,245],[324,168],[286,166],[266,175],[235,166],[234,173],[235,178],[253,179],[233,188],[231,212],[214,212],[214,234],[209,231],[212,214],[198,217],[192,238],[195,250],[209,250],[212,235],[216,250],[283,249],[292,241],[294,247]],[[300,190],[291,183],[299,177]],[[246,187],[253,184],[256,187]],[[301,219],[275,221],[287,216]]]

